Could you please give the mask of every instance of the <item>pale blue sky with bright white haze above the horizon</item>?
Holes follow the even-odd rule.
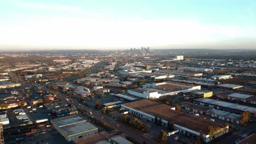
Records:
[[[0,0],[0,50],[256,49],[255,0]]]

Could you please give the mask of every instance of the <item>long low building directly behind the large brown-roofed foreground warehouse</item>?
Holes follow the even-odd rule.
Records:
[[[185,102],[185,103],[182,103],[182,107],[184,107],[185,110],[193,111],[195,113],[200,113],[201,115],[210,115],[211,117],[216,117],[227,122],[232,122],[232,123],[235,122],[239,124],[241,119],[241,115],[227,112],[227,111],[212,109],[211,107],[206,107],[202,105],[196,105],[196,104]]]

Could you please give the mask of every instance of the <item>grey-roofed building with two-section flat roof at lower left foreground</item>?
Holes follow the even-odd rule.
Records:
[[[98,133],[98,128],[78,115],[51,119],[51,123],[67,141]]]

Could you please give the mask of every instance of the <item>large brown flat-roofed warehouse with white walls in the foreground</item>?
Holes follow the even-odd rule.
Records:
[[[229,131],[228,126],[223,128],[223,124],[218,122],[211,122],[209,119],[202,119],[188,113],[176,111],[175,107],[159,104],[151,100],[133,101],[122,104],[121,108],[148,121],[154,122],[155,117],[160,121],[161,118],[161,125],[164,127],[167,127],[168,122],[173,122],[174,128],[179,129],[179,133],[182,134],[199,136],[202,132],[204,142],[209,142]],[[209,126],[223,128],[223,132],[216,133],[211,137],[207,133]]]

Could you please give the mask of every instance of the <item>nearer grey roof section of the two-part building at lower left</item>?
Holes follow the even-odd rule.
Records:
[[[88,130],[97,129],[89,122],[80,122],[75,124],[66,125],[60,128],[67,136],[82,133]]]

